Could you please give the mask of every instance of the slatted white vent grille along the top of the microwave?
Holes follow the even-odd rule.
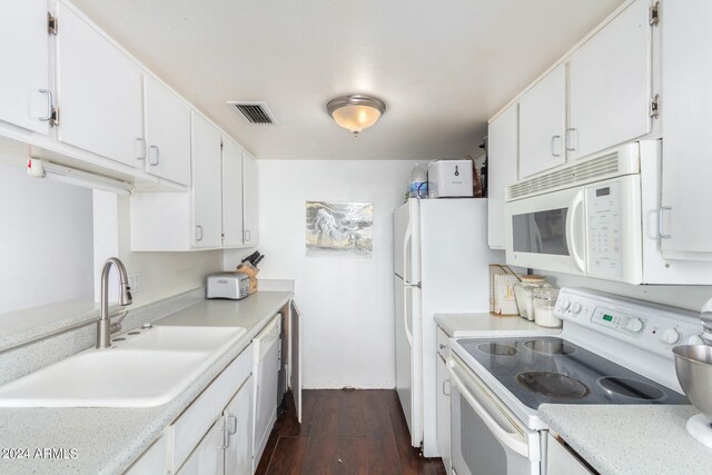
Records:
[[[620,176],[622,175],[620,159],[621,154],[619,150],[615,150],[611,154],[564,169],[520,181],[518,184],[507,187],[505,200],[514,201],[528,196]]]

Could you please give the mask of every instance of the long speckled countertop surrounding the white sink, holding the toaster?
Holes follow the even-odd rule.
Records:
[[[120,474],[250,343],[293,297],[257,293],[244,300],[202,300],[155,325],[241,326],[247,334],[170,403],[148,408],[0,408],[0,449],[28,449],[29,458],[4,458],[2,474]],[[110,368],[108,368],[110,369]],[[36,457],[37,449],[58,458]],[[71,449],[76,451],[72,458]],[[41,452],[40,452],[41,453]],[[65,457],[61,457],[61,456]]]

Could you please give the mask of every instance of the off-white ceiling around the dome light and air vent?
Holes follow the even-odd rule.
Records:
[[[259,159],[431,160],[479,155],[487,119],[623,0],[73,2]],[[355,92],[388,105],[356,139],[325,111]]]

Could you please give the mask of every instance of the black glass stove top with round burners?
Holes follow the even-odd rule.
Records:
[[[682,394],[562,338],[459,338],[457,344],[532,409],[541,404],[690,404]]]

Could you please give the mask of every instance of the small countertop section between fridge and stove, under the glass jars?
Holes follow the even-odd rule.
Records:
[[[561,328],[542,327],[522,317],[498,317],[492,314],[435,314],[435,321],[451,338],[561,333]]]

